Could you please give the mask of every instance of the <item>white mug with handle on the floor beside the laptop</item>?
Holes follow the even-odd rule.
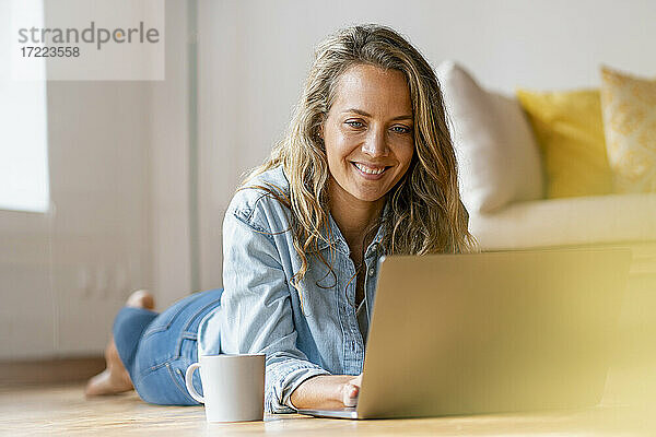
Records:
[[[201,355],[187,368],[191,398],[206,405],[208,422],[262,421],[265,417],[265,354]],[[201,397],[191,377],[200,368]]]

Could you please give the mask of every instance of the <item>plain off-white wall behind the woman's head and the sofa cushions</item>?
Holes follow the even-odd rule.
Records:
[[[201,285],[221,284],[221,217],[238,174],[284,132],[313,46],[375,22],[491,88],[597,86],[600,63],[656,75],[656,2],[200,0]]]

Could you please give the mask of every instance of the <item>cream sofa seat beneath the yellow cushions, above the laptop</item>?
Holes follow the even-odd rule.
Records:
[[[518,202],[471,215],[483,250],[656,241],[656,193]]]

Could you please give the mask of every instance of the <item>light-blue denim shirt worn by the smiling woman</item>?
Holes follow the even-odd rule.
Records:
[[[289,194],[282,167],[248,185],[266,182]],[[365,339],[355,315],[355,267],[349,246],[330,216],[331,235],[324,234],[330,244],[319,241],[318,248],[337,281],[318,257],[308,255],[307,273],[301,291],[296,290],[292,277],[301,259],[292,244],[290,214],[261,189],[234,196],[223,221],[221,307],[203,319],[198,335],[200,355],[266,354],[265,410],[270,413],[294,412],[291,393],[306,379],[359,375],[364,364]],[[366,323],[384,255],[382,232],[380,227],[364,253]]]

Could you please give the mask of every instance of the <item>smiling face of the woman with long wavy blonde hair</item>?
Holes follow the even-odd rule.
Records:
[[[354,66],[338,80],[323,126],[330,189],[375,202],[403,176],[414,153],[412,104],[403,73]]]

